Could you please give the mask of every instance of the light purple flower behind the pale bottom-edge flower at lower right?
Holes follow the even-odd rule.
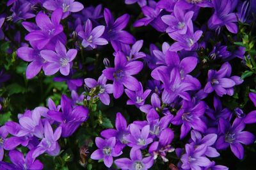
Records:
[[[200,134],[200,132],[197,132],[196,130],[191,130],[191,139],[192,139],[192,143],[195,146],[199,146],[201,144],[205,144],[205,146],[207,147],[206,151],[205,151],[205,155],[207,157],[219,157],[220,153],[218,153],[218,151],[212,147],[212,145],[216,142],[218,135],[216,134],[207,134],[204,137],[202,137],[202,135]]]

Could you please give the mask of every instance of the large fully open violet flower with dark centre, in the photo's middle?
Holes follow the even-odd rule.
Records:
[[[103,74],[107,79],[113,81],[113,95],[115,98],[119,98],[122,95],[124,86],[133,91],[140,89],[140,82],[131,75],[139,73],[142,68],[143,63],[141,61],[131,61],[128,63],[122,52],[116,52],[115,68],[103,70]]]

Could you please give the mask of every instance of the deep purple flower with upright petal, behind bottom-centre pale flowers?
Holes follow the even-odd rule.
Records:
[[[120,112],[116,113],[115,127],[116,130],[114,128],[109,128],[103,130],[100,135],[108,139],[110,137],[116,137],[116,150],[122,150],[127,144],[124,137],[129,134],[129,130],[127,128],[127,121]]]

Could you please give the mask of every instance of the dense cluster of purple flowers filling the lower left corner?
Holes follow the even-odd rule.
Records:
[[[4,150],[10,151],[13,164],[0,161],[0,169],[43,169],[43,164],[36,157],[47,153],[51,156],[60,154],[60,137],[72,135],[88,118],[88,109],[73,105],[67,96],[61,97],[61,105],[55,105],[49,98],[47,107],[36,107],[19,114],[19,123],[6,122],[0,127],[0,159]],[[24,158],[19,147],[29,149]]]

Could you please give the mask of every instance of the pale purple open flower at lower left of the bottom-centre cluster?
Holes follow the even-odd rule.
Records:
[[[113,157],[118,157],[122,155],[122,151],[116,152],[116,138],[110,137],[109,139],[102,139],[100,137],[96,137],[95,143],[98,150],[93,151],[91,158],[94,160],[100,160],[103,158],[104,164],[107,167],[111,167],[113,164]]]

